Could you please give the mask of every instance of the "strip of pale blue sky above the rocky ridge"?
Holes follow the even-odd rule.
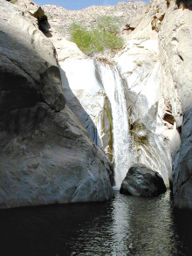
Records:
[[[142,0],[148,2],[148,0]],[[127,0],[34,0],[39,5],[54,4],[63,6],[67,10],[80,10],[91,5],[116,5],[118,2],[128,2]]]

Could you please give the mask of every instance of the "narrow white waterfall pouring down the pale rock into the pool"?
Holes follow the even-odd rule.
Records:
[[[116,67],[96,64],[102,85],[111,102],[113,114],[114,180],[119,188],[130,167],[131,154],[127,105],[123,80]]]

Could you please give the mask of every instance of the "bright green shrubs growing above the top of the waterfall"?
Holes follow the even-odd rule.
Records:
[[[73,23],[70,26],[72,42],[87,55],[104,52],[106,49],[121,49],[124,41],[117,36],[118,32],[119,26],[116,17],[99,17],[96,26],[89,31],[81,24]]]

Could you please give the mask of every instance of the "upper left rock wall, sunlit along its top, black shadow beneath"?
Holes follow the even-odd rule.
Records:
[[[0,8],[0,111],[32,107],[38,101],[45,101],[56,111],[62,110],[65,97],[51,41],[38,30],[36,18],[24,18],[15,4],[2,1]]]

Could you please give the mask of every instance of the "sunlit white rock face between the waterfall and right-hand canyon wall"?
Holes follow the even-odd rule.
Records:
[[[130,34],[130,36],[132,33]],[[158,41],[130,39],[114,60],[126,81],[125,97],[132,144],[130,166],[143,163],[158,171],[166,185],[171,173],[169,133],[173,125],[163,120],[161,109],[161,64]]]

